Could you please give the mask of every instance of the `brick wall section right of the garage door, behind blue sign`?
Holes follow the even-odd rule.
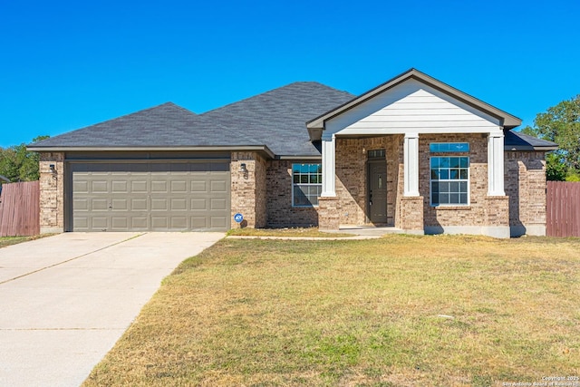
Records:
[[[245,163],[247,173],[240,172]],[[266,160],[256,152],[232,152],[231,173],[231,222],[236,227],[266,226]],[[242,223],[235,222],[234,215],[244,216]]]

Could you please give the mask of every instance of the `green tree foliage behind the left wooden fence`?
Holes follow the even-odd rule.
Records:
[[[48,139],[49,136],[36,137],[33,142]],[[40,155],[26,150],[26,144],[0,148],[0,175],[12,182],[34,181],[40,178],[38,162]]]

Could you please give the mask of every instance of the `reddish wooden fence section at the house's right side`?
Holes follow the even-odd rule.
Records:
[[[547,182],[546,235],[580,237],[580,182]]]

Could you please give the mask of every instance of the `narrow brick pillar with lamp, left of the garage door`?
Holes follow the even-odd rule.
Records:
[[[54,165],[53,171],[50,165]],[[40,232],[64,231],[64,153],[40,154]]]

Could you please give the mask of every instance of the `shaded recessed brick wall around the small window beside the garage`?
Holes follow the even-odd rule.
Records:
[[[318,226],[318,208],[292,207],[292,164],[316,160],[269,160],[266,170],[266,211],[269,227]]]

